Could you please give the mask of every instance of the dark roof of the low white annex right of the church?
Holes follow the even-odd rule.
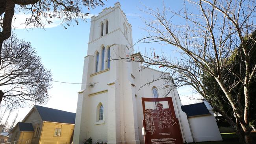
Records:
[[[187,114],[187,117],[210,114],[206,105],[203,102],[191,105],[182,105],[181,109]]]

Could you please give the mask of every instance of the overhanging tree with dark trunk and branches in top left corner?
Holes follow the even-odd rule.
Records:
[[[28,14],[25,21],[27,26],[43,28],[42,19],[50,24],[52,18],[59,18],[67,26],[72,21],[78,24],[79,18],[86,21],[89,13],[83,13],[83,8],[90,10],[99,5],[104,5],[103,0],[0,0],[0,53],[2,43],[11,36],[15,11]]]

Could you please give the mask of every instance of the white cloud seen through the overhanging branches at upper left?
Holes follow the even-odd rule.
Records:
[[[93,14],[89,14],[86,18],[91,19],[92,16]],[[15,13],[12,20],[13,28],[15,29],[26,28],[26,25],[24,23],[26,21],[26,18],[29,18],[29,17],[31,17],[30,14]],[[48,19],[52,21],[51,24],[48,24],[47,20],[45,18],[42,18],[42,22],[45,24],[44,28],[54,28],[61,25],[61,19],[59,18],[48,18]],[[32,25],[32,26],[27,26],[27,28],[35,28],[35,27]]]

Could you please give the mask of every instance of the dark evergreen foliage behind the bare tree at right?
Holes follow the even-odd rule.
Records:
[[[252,39],[253,38],[253,39]],[[248,52],[250,53],[250,72],[252,71],[255,63],[256,63],[256,44],[255,44],[255,40],[256,40],[256,30],[250,35],[250,38],[245,37],[245,46],[248,49]],[[223,66],[223,69],[221,70],[221,75],[224,76],[226,79],[226,82],[224,83],[224,85],[226,87],[232,87],[232,81],[243,81],[243,78],[245,78],[245,54],[243,52],[243,48],[242,45],[240,45],[238,48],[236,48],[236,50],[234,50],[234,52],[232,53],[232,55],[230,55],[230,57],[227,58],[227,63],[225,63],[225,65]],[[229,70],[228,70],[229,69]],[[230,70],[232,70],[232,73],[230,72]],[[237,76],[235,76],[234,74],[236,74],[237,76],[239,76],[241,79],[238,79]],[[215,81],[215,78],[213,76],[210,76],[209,74],[205,74],[204,75],[204,79],[203,79],[203,84],[207,89],[207,95],[211,98],[216,98],[219,97],[220,101],[216,102],[217,105],[223,105],[222,109],[224,111],[226,111],[226,113],[233,119],[233,121],[235,121],[235,117],[234,117],[234,112],[233,109],[230,105],[230,103],[228,103],[228,99],[226,98],[223,90],[221,90],[221,87],[219,86],[219,84],[217,83],[217,81]],[[254,96],[254,94],[256,93],[256,76],[254,74],[254,78],[252,78],[252,84],[250,86],[250,96]],[[240,109],[243,109],[244,107],[244,89],[243,89],[243,84],[239,83],[236,87],[234,87],[234,89],[232,89],[231,94],[234,97],[234,99],[240,103],[242,103]],[[249,115],[249,121],[251,122],[250,124],[255,124],[255,122],[253,120],[256,119],[256,99],[251,97],[250,98],[250,111],[249,111],[250,115]],[[225,118],[223,118],[222,116],[217,116],[216,117],[217,120],[217,124],[218,126],[224,126],[227,127],[229,126],[229,124],[227,123],[227,121],[225,120]]]

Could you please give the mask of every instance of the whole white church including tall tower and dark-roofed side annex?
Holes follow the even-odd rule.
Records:
[[[158,80],[163,73],[143,68],[139,62],[108,61],[134,54],[132,26],[119,2],[91,17],[87,56],[84,58],[82,85],[78,92],[73,144],[93,143],[143,144],[142,97],[161,98],[165,88],[173,85]],[[184,105],[176,89],[171,90],[176,118],[179,120],[183,142],[222,140],[211,106],[207,102]],[[185,111],[185,112],[184,112]]]

